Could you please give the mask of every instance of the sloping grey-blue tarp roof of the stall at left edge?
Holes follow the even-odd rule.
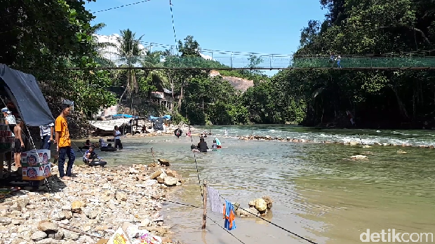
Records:
[[[0,84],[18,110],[27,126],[45,126],[54,122],[53,115],[38,81],[32,74],[25,74],[0,64]],[[1,104],[5,106],[5,104]]]

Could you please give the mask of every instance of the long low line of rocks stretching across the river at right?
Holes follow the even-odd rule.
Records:
[[[392,146],[392,147],[421,147],[427,149],[435,149],[434,146],[427,145],[413,145],[408,143],[403,144],[394,144],[394,143],[378,143],[373,142],[372,144],[363,144],[362,142],[332,142],[332,141],[322,141],[322,142],[314,142],[312,140],[307,139],[298,139],[292,137],[271,137],[269,135],[260,136],[260,135],[248,135],[248,136],[239,136],[237,137],[239,140],[259,140],[259,141],[280,141],[280,142],[302,142],[302,143],[323,143],[323,144],[342,144],[342,145],[363,145],[365,148],[369,148],[372,146]]]

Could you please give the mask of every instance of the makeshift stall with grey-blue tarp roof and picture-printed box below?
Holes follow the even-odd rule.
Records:
[[[0,93],[6,95],[12,104],[4,103],[1,106],[15,107],[18,116],[22,118],[26,126],[45,126],[54,122],[48,104],[39,89],[39,84],[31,74],[25,74],[6,65],[0,64]],[[4,120],[0,121],[0,179],[4,177],[4,156],[13,149],[14,138],[10,130],[4,126]],[[5,129],[5,130],[3,130]],[[32,140],[32,138],[30,138]],[[35,147],[34,142],[32,146]],[[39,182],[51,175],[50,151],[31,150],[22,152],[22,179]],[[47,167],[48,165],[48,167]],[[11,164],[8,165],[11,170]]]

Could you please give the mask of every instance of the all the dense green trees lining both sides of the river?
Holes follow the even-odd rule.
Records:
[[[122,103],[126,98],[140,97],[146,106],[155,107],[142,115],[172,112],[175,121],[192,124],[350,126],[346,111],[351,111],[356,126],[435,127],[435,72],[306,69],[286,70],[273,77],[256,70],[220,70],[220,76],[189,69],[107,72],[95,67],[226,66],[202,58],[201,47],[193,36],[179,41],[178,54],[173,50],[151,52],[143,48],[142,36],[130,29],[120,31],[116,45],[98,43],[92,34],[104,25],[90,24],[94,17],[84,8],[84,1],[0,2],[4,6],[0,18],[5,20],[0,26],[0,63],[34,74],[51,105],[66,98],[88,113]],[[410,62],[415,62],[423,53],[425,58],[434,53],[423,52],[435,49],[434,1],[321,0],[321,6],[328,8],[326,19],[310,20],[302,29],[298,55],[393,53],[399,59],[412,56]],[[108,46],[114,48],[116,60],[105,58]],[[415,53],[409,54],[411,51]],[[249,60],[248,68],[262,62],[255,55]],[[323,59],[302,61],[304,67],[319,66],[316,62]],[[293,65],[301,65],[302,61]],[[366,61],[343,58],[341,65],[355,67]],[[331,63],[334,66],[336,63]],[[67,71],[67,67],[81,70]],[[254,86],[242,93],[225,76],[251,80]],[[123,93],[110,93],[110,86],[121,87]],[[174,102],[169,111],[159,103],[147,102],[152,100],[153,91],[163,88],[172,93]]]

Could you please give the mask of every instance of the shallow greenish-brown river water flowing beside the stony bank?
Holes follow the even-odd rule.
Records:
[[[228,136],[222,136],[224,130]],[[316,144],[279,141],[244,141],[236,135],[270,135],[336,142],[373,142],[434,145],[428,130],[327,130],[297,126],[212,126],[223,149],[196,154],[201,181],[220,191],[229,201],[248,207],[253,198],[271,196],[272,212],[265,217],[274,224],[315,243],[361,243],[360,235],[395,229],[396,232],[435,232],[434,149],[419,147],[363,148],[361,145]],[[357,134],[360,134],[361,137]],[[199,141],[194,137],[194,143]],[[167,158],[172,168],[189,181],[170,198],[202,205],[194,154],[189,137],[123,139],[124,149],[102,153],[109,164],[152,163]],[[399,154],[398,150],[407,154]],[[78,153],[79,154],[79,153]],[[350,161],[356,154],[368,161]],[[174,239],[185,243],[239,243],[222,230],[222,215],[210,212],[207,231],[201,231],[203,210],[165,204],[165,221],[173,224]],[[308,243],[258,218],[236,218],[230,231],[243,243]],[[414,236],[415,237],[415,236]],[[415,237],[416,238],[416,237]],[[406,239],[406,238],[405,238]],[[431,243],[424,239],[420,243]]]

